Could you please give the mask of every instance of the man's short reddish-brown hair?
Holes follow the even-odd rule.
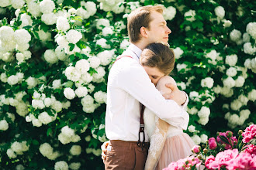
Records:
[[[141,27],[144,26],[145,28],[150,29],[149,24],[152,20],[150,18],[151,12],[159,12],[162,14],[163,7],[161,5],[147,5],[135,9],[130,13],[130,15],[128,15],[127,27],[130,42],[138,42],[140,40]]]

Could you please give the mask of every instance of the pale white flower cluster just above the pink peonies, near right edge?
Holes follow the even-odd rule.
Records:
[[[251,111],[246,109],[246,110],[241,110],[240,114],[230,114],[230,112],[228,112],[227,114],[225,114],[225,119],[227,119],[228,121],[228,126],[230,128],[236,128],[237,125],[241,126],[244,124],[244,122],[249,118],[251,114]]]

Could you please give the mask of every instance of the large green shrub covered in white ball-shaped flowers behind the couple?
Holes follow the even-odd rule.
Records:
[[[195,143],[227,130],[226,124],[234,130],[256,121],[254,3],[5,0],[0,1],[3,169],[102,169],[109,68],[130,44],[127,15],[154,4],[164,5],[172,31],[173,76],[189,94],[188,134]]]

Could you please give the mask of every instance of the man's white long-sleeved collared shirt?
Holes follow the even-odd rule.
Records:
[[[141,49],[131,44],[113,64],[108,78],[106,137],[109,140],[138,141],[140,103],[169,124],[186,129],[189,114],[174,100],[165,100],[139,63]],[[145,138],[148,141],[147,131]]]

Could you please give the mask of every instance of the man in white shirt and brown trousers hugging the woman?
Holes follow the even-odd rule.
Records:
[[[148,136],[145,131],[146,147],[140,148],[137,145],[140,104],[154,111],[164,121],[175,117],[175,122],[182,122],[188,117],[181,107],[187,104],[187,95],[174,84],[167,84],[173,92],[166,97],[170,100],[165,100],[151,83],[154,77],[149,77],[139,63],[140,53],[148,44],[168,43],[171,30],[162,12],[163,8],[159,5],[144,6],[128,16],[131,45],[122,55],[127,57],[116,61],[109,72],[106,136],[110,141],[102,145],[102,159],[106,169],[144,169]],[[168,123],[171,124],[171,121]]]

